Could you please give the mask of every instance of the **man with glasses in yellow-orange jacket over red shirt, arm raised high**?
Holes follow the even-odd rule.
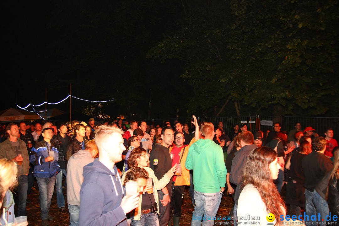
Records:
[[[181,206],[184,201],[185,185],[190,186],[190,170],[185,168],[185,162],[188,154],[188,149],[190,149],[191,145],[200,138],[200,131],[197,118],[193,116],[193,120],[194,122],[192,123],[195,125],[195,137],[191,140],[190,144],[184,145],[185,138],[184,133],[181,130],[181,132],[177,131],[174,135],[175,146],[169,148],[169,153],[172,159],[172,167],[175,164],[180,164],[182,172],[180,177],[173,176],[172,197],[171,197],[171,206],[169,210],[168,225],[171,225],[171,216],[173,210],[173,226],[179,226],[179,221],[181,217]],[[176,127],[177,125],[181,124],[177,123]]]

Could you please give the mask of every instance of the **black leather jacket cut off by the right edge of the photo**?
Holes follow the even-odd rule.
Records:
[[[333,175],[332,180],[328,183],[327,203],[331,213],[339,215],[339,169]]]

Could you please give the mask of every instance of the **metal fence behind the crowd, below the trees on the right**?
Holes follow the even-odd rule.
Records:
[[[188,123],[191,128],[189,118],[174,118],[174,119],[153,119],[154,125],[159,124],[162,126],[165,120],[169,120],[173,126],[173,122],[178,120],[181,123]],[[281,130],[289,132],[294,129],[295,124],[299,122],[301,128],[304,129],[307,126],[312,126],[320,136],[325,136],[324,132],[327,127],[331,127],[334,132],[334,139],[339,139],[339,117],[292,117],[292,116],[241,116],[241,117],[197,117],[197,120],[202,122],[212,122],[217,125],[218,122],[224,124],[224,129],[228,132],[233,130],[234,124],[240,124],[242,121],[247,124],[247,129],[255,132],[260,129],[262,131],[268,129],[273,130],[274,123],[281,123]],[[271,124],[270,124],[271,123]],[[270,124],[270,125],[269,125]]]

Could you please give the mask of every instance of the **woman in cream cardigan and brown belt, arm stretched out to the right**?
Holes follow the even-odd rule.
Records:
[[[125,182],[125,178],[128,177],[129,172],[135,170],[134,168],[136,167],[140,167],[147,171],[148,178],[152,178],[153,185],[146,185],[146,187],[142,191],[142,195],[139,196],[138,208],[136,209],[136,211],[131,212],[131,217],[133,217],[133,226],[159,226],[157,215],[157,213],[159,214],[159,208],[156,208],[157,206],[159,206],[157,190],[161,190],[168,184],[169,180],[174,175],[177,166],[174,165],[164,174],[164,176],[160,180],[158,180],[154,174],[154,171],[147,166],[148,163],[149,157],[146,150],[141,147],[134,148],[127,161],[129,169],[122,175],[121,178],[121,180]]]

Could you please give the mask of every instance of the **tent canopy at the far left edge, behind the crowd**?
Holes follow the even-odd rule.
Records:
[[[39,115],[33,112],[19,110],[14,108],[8,108],[0,112],[0,121],[21,121],[21,120],[35,120],[40,119]]]

